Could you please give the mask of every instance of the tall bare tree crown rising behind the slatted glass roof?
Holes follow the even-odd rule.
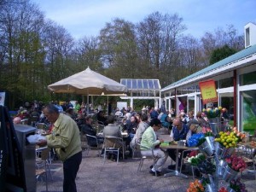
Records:
[[[151,74],[155,74],[164,85],[174,80],[172,77],[176,73],[179,56],[178,41],[186,29],[182,22],[177,14],[155,12],[137,26],[140,57],[144,63],[148,62],[154,71]]]

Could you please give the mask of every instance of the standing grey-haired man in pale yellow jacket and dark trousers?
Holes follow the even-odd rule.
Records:
[[[63,192],[76,192],[75,178],[82,161],[79,127],[69,116],[59,113],[58,108],[52,104],[45,106],[43,111],[54,128],[51,134],[46,136],[46,140],[39,140],[37,144],[55,148],[55,152],[63,162]]]

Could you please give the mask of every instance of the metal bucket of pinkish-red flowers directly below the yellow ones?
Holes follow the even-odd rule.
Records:
[[[236,178],[238,172],[243,172],[247,168],[247,164],[241,157],[232,155],[229,158],[226,158],[228,166],[226,166],[223,174],[223,179],[226,182],[230,182],[232,179]]]

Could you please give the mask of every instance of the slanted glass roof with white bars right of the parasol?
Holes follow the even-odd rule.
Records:
[[[121,79],[128,90],[160,90],[159,79]]]

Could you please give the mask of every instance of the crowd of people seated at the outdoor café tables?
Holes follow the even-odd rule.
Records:
[[[188,140],[193,134],[201,132],[202,127],[209,127],[207,119],[202,116],[201,112],[196,113],[194,117],[193,111],[186,114],[181,110],[179,114],[176,114],[174,109],[167,111],[165,108],[148,108],[147,106],[143,107],[140,112],[135,112],[132,108],[122,108],[121,110],[115,108],[110,115],[106,116],[103,110],[96,110],[94,113],[87,114],[84,103],[80,105],[76,102],[75,106],[69,102],[63,103],[63,105],[59,105],[58,102],[53,102],[53,104],[59,109],[60,113],[66,113],[76,121],[79,131],[97,138],[96,143],[95,139],[87,137],[87,142],[90,146],[103,144],[104,137],[112,136],[123,138],[124,143],[120,143],[120,145],[125,146],[126,157],[131,157],[137,143],[141,144],[140,149],[143,155],[152,153],[151,149],[148,148],[153,148],[154,155],[158,157],[158,160],[154,166],[150,167],[149,172],[157,176],[162,174],[162,168],[168,156],[173,161],[176,160],[175,149],[168,148],[164,151],[160,148],[160,143],[164,141],[158,138],[157,131],[165,127],[170,133],[170,141],[179,141]],[[42,108],[44,108],[43,105],[36,105],[36,107],[32,105],[30,111],[26,108],[20,108],[20,111],[14,118],[14,123],[19,124],[21,119],[38,117],[37,122],[47,125],[50,133],[52,127],[48,119],[44,117]],[[94,122],[103,126],[102,135],[98,134],[98,130],[93,125]],[[127,133],[127,137],[122,136],[122,131]],[[184,153],[184,155],[188,154]],[[181,157],[175,163],[180,167]],[[175,169],[175,165],[169,165],[168,169]]]

